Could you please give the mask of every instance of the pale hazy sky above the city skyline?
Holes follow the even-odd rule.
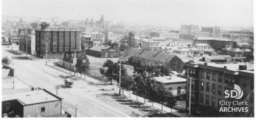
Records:
[[[2,16],[50,20],[123,21],[127,24],[180,27],[253,26],[253,1],[2,1]]]

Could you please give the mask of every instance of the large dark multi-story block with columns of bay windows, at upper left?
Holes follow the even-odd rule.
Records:
[[[41,58],[74,57],[81,52],[81,31],[77,29],[48,29],[48,24],[41,23],[36,30],[36,56]],[[47,54],[46,54],[47,52]]]

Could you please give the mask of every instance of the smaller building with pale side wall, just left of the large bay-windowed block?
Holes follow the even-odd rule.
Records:
[[[19,36],[19,50],[28,52],[29,54],[36,53],[35,51],[35,36],[22,34]]]

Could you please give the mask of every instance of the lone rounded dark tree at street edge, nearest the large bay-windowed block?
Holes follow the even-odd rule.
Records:
[[[77,56],[75,68],[78,71],[78,73],[80,73],[81,77],[83,73],[84,79],[86,79],[86,73],[90,69],[90,62],[86,54],[80,53]]]

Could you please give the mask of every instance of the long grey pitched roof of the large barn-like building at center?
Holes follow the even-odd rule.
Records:
[[[159,53],[154,51],[141,51],[141,52],[135,53],[133,56],[165,63],[165,62],[169,62],[176,55],[170,55],[167,53]]]

